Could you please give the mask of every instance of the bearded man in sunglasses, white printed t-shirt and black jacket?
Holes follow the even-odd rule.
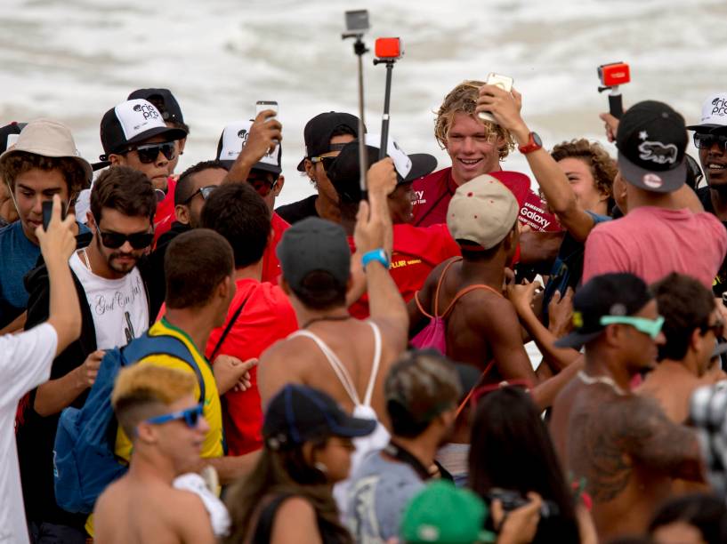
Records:
[[[87,218],[93,238],[69,260],[81,304],[81,336],[55,358],[51,380],[33,390],[19,408],[20,473],[33,541],[44,541],[44,535],[71,542],[85,539],[85,516],[64,512],[55,502],[55,431],[61,410],[84,404],[103,350],[141,336],[157,315],[158,304],[149,298],[145,282],[148,274],[136,266],[152,241],[156,205],[149,179],[130,168],[111,168],[93,184]],[[47,268],[36,268],[28,276],[28,291],[26,328],[48,316]]]

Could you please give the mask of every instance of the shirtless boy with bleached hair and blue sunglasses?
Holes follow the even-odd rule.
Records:
[[[96,503],[99,544],[215,541],[202,500],[172,484],[196,464],[209,429],[195,386],[193,374],[153,364],[119,372],[111,403],[133,454]]]

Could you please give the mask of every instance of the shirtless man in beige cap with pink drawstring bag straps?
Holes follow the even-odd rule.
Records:
[[[419,332],[429,323],[420,308],[432,315],[436,311],[445,318],[445,355],[481,371],[494,361],[488,383],[537,381],[522,346],[513,304],[502,295],[505,267],[512,262],[518,244],[518,210],[513,193],[487,174],[457,188],[449,204],[447,226],[462,249],[462,260],[447,260],[434,268],[415,300],[408,304],[410,333]],[[444,278],[440,282],[441,276]],[[475,285],[456,299],[457,293]],[[455,300],[456,305],[448,312]]]

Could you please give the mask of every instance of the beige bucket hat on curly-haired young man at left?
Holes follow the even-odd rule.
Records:
[[[76,142],[70,133],[69,127],[51,119],[36,119],[28,123],[20,132],[15,145],[0,155],[0,169],[3,168],[8,156],[18,151],[34,153],[40,156],[62,157],[76,159],[84,169],[86,179],[93,179],[93,170],[78,153]]]

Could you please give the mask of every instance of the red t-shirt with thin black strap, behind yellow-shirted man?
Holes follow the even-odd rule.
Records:
[[[295,311],[278,285],[239,279],[238,292],[230,304],[222,327],[214,329],[207,341],[205,356],[209,357],[227,327],[230,318],[243,300],[245,308],[218,350],[220,355],[246,361],[259,357],[273,343],[298,330]],[[263,445],[263,410],[257,389],[257,368],[250,372],[252,387],[246,391],[230,389],[222,396],[222,425],[230,455],[253,452]]]

